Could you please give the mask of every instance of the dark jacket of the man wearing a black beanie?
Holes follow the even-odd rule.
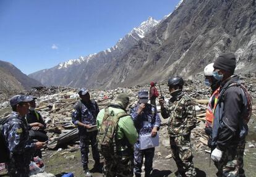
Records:
[[[233,82],[239,82],[238,76],[231,76],[229,80],[221,83],[214,112],[212,146],[217,146],[220,150],[237,145],[245,138],[248,130],[242,118],[246,104],[245,94],[239,86],[229,87]]]

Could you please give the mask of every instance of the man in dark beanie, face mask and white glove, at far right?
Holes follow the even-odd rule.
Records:
[[[250,118],[250,96],[239,77],[234,75],[236,57],[232,53],[221,54],[214,62],[213,76],[221,81],[220,94],[214,112],[213,141],[216,148],[211,159],[218,168],[217,176],[244,175],[245,136],[248,133],[247,122]],[[237,167],[223,171],[227,162],[237,155]]]

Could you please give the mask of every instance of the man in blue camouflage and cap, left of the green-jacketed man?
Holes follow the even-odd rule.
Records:
[[[95,160],[95,165],[92,171],[101,172],[100,154],[98,152],[98,144],[96,141],[98,131],[95,129],[96,117],[100,110],[96,102],[90,99],[88,89],[79,89],[78,94],[81,100],[75,104],[74,112],[72,113],[72,123],[77,125],[79,128],[80,150],[85,176],[92,176],[88,170],[88,153],[90,144],[92,146],[93,159]]]

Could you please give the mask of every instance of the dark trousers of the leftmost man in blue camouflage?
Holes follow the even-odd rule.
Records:
[[[26,159],[23,155],[19,155],[19,157],[12,157],[11,161],[6,163],[6,168],[8,171],[8,175],[10,177],[28,177],[30,158]]]

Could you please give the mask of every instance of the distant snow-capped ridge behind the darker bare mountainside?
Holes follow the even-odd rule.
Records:
[[[158,20],[149,17],[148,20],[142,22],[139,27],[132,29],[124,38],[119,39],[115,46],[105,51],[98,52],[98,54],[80,56],[78,59],[70,59],[67,62],[58,64],[56,67],[41,70],[29,76],[45,85],[84,86],[84,78],[81,78],[82,81],[79,81],[77,80],[77,75],[73,73],[79,75],[79,73],[84,72],[85,75],[87,75],[86,78],[90,78],[90,75],[92,75],[95,70],[98,70],[98,67],[102,67],[110,60],[116,60],[123,54],[126,54],[140,39],[150,33],[158,23]]]

